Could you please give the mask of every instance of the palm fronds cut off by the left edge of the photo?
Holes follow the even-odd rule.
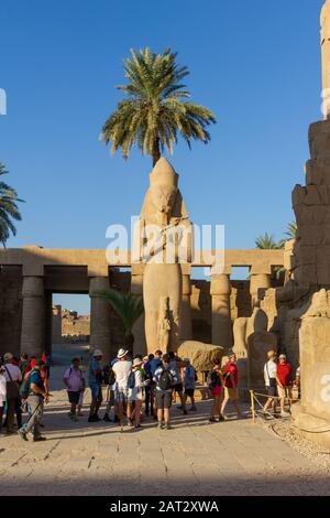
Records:
[[[0,176],[8,173],[4,163],[0,162]],[[16,235],[16,228],[12,220],[20,222],[22,219],[16,202],[23,202],[23,199],[18,197],[13,187],[0,180],[0,242],[3,247],[6,247],[10,234]]]

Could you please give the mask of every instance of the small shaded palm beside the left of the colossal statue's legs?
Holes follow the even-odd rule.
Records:
[[[132,328],[136,320],[144,312],[142,296],[130,292],[123,293],[112,289],[99,291],[98,296],[109,302],[109,304],[122,320],[125,330],[124,344],[132,353],[134,344]]]

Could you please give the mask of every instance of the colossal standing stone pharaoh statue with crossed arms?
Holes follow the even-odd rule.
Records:
[[[150,175],[140,216],[140,260],[145,263],[143,301],[147,353],[177,350],[183,298],[182,267],[191,261],[191,224],[178,175],[160,159]],[[164,350],[163,350],[164,352]]]

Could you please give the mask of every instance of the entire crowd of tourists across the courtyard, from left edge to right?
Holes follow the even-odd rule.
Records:
[[[150,416],[157,421],[160,429],[170,429],[170,408],[176,398],[177,407],[183,414],[197,410],[195,389],[197,373],[189,358],[180,359],[173,352],[163,354],[157,349],[148,356],[135,355],[133,358],[125,348],[118,350],[106,367],[103,354],[95,349],[86,373],[81,357],[75,357],[65,370],[63,381],[70,404],[69,418],[76,422],[82,416],[84,393],[89,387],[91,403],[88,422],[118,423],[122,430],[124,424],[139,430],[142,422]],[[50,364],[50,361],[48,361]],[[28,434],[33,434],[34,441],[44,441],[41,434],[44,403],[48,401],[50,365],[45,355],[41,359],[29,358],[22,354],[20,358],[7,353],[0,358],[0,431],[7,428],[12,434],[14,418],[20,436],[28,441]],[[277,361],[277,354],[270,350],[264,366],[267,401],[264,413],[270,409],[276,412],[276,401],[280,402],[280,416],[286,417],[286,402],[290,402],[292,387],[300,385],[299,369],[293,381],[292,367],[284,354]],[[102,388],[107,386],[107,406],[102,417],[99,416],[103,401]],[[212,395],[213,404],[209,422],[226,420],[226,408],[229,401],[233,403],[238,418],[242,418],[239,396],[239,369],[234,353],[229,353],[228,361],[221,365],[221,359],[213,358],[213,368],[208,373],[207,388]],[[188,402],[190,407],[188,409]],[[143,408],[144,404],[144,408]],[[22,424],[22,410],[29,418]],[[112,412],[111,412],[112,411]],[[6,420],[3,421],[3,413]],[[112,413],[112,416],[111,416]]]

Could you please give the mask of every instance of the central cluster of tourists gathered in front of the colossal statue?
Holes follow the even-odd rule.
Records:
[[[151,416],[158,428],[170,428],[170,407],[176,397],[179,398],[177,407],[187,414],[187,404],[190,401],[189,411],[197,410],[195,404],[195,388],[197,373],[189,358],[180,359],[173,352],[163,354],[157,349],[154,354],[143,357],[135,355],[132,359],[129,350],[120,348],[117,357],[102,368],[103,354],[100,349],[94,352],[89,365],[88,380],[81,368],[80,358],[73,358],[72,366],[64,375],[70,403],[69,417],[77,420],[79,401],[85,392],[87,384],[91,392],[89,422],[113,421],[121,429],[125,421],[129,427],[141,428],[141,421]],[[242,417],[239,403],[238,366],[234,354],[229,355],[229,361],[221,367],[220,358],[215,358],[213,369],[208,377],[215,403],[209,421],[224,420],[224,410],[229,400],[232,401],[238,417]],[[107,407],[105,416],[99,416],[103,401],[102,386],[107,385]],[[221,397],[223,392],[223,400]],[[143,411],[144,402],[144,411]],[[113,419],[110,412],[113,409]]]

